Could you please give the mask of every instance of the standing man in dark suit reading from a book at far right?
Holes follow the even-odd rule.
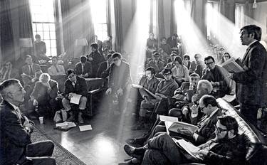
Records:
[[[240,104],[240,112],[251,124],[256,126],[258,108],[264,97],[264,76],[267,74],[266,49],[261,41],[261,28],[256,25],[244,26],[240,30],[241,43],[248,46],[242,59],[244,71],[231,73],[229,77],[236,81],[236,97]]]

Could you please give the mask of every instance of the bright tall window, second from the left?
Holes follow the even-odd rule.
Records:
[[[95,34],[98,40],[108,38],[108,0],[92,0],[90,2]]]

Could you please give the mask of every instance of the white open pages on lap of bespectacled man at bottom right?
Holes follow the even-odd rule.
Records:
[[[203,160],[199,155],[194,154],[197,151],[199,151],[199,147],[194,146],[194,144],[185,141],[184,139],[174,139],[174,142],[179,146],[182,147],[182,149],[184,149],[185,151],[187,151],[188,154],[190,154],[191,156],[193,156],[195,159],[201,159]]]

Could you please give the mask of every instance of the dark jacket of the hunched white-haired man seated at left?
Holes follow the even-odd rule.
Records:
[[[31,93],[31,96],[38,99],[40,97],[47,97],[51,99],[56,99],[56,96],[58,95],[58,82],[55,80],[49,80],[49,85],[51,87],[51,91],[46,95],[47,87],[45,87],[42,82],[38,81],[36,82],[33,92]]]

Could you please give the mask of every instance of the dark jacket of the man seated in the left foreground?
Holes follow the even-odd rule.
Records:
[[[24,151],[31,144],[31,134],[23,127],[26,117],[21,119],[14,107],[6,102],[0,105],[0,164],[16,164],[26,159]]]

